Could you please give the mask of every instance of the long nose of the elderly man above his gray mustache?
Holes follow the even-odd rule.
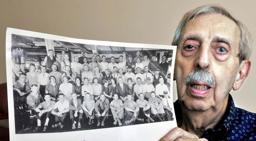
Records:
[[[198,56],[195,62],[196,68],[209,69],[211,50],[210,45],[201,44],[198,52]]]

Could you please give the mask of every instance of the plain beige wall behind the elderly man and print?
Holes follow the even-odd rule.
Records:
[[[211,3],[228,8],[256,36],[254,1],[1,1],[0,65],[3,67],[0,67],[0,83],[6,82],[6,27],[81,39],[170,45],[183,14]],[[242,88],[231,93],[237,107],[256,112],[255,49],[251,60],[251,72]],[[174,92],[173,97],[177,99],[176,84]]]

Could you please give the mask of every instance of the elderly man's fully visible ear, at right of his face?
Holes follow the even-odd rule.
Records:
[[[238,90],[242,86],[245,78],[248,76],[250,72],[250,68],[251,68],[251,61],[243,60],[242,64],[239,67],[239,71],[236,76],[236,81],[233,84],[233,90]]]

